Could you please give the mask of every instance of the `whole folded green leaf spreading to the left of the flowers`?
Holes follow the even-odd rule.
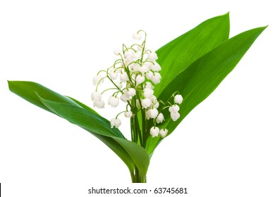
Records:
[[[146,176],[149,155],[138,144],[125,139],[116,128],[111,129],[110,122],[80,101],[62,96],[35,82],[9,81],[8,87],[30,103],[64,117],[75,125],[86,129],[111,148],[133,174],[135,166],[142,176]]]

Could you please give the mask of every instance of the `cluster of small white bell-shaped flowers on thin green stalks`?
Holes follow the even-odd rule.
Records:
[[[146,125],[146,121],[152,119],[153,127],[148,131],[153,137],[160,136],[165,137],[168,133],[168,129],[157,127],[164,122],[164,114],[162,110],[169,108],[171,119],[173,121],[178,120],[180,109],[177,104],[183,102],[181,94],[176,92],[169,99],[171,101],[158,101],[154,96],[154,85],[161,82],[161,75],[159,71],[161,66],[157,63],[157,53],[145,48],[147,34],[140,30],[136,34],[133,34],[133,39],[140,41],[144,37],[142,44],[133,44],[127,47],[123,44],[123,49],[115,49],[114,54],[118,56],[118,59],[107,70],[101,70],[97,73],[97,76],[93,79],[93,84],[96,86],[96,90],[92,92],[92,101],[94,107],[104,108],[105,103],[102,100],[102,94],[108,90],[113,90],[113,94],[109,97],[108,104],[111,107],[116,107],[123,101],[126,103],[125,117],[130,117],[138,121],[138,113],[142,115],[142,125]],[[109,80],[113,87],[99,92],[99,85]],[[118,115],[121,115],[118,113]],[[118,115],[111,119],[111,127],[119,127],[121,120],[118,119]],[[135,121],[135,124],[138,122]],[[144,122],[145,121],[145,122]],[[146,128],[142,128],[143,132]],[[138,132],[142,132],[139,128]]]

